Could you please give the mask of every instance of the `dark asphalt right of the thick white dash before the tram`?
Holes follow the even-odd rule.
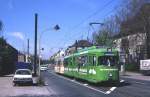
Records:
[[[150,97],[150,82],[123,78],[125,80],[111,95],[117,97]]]

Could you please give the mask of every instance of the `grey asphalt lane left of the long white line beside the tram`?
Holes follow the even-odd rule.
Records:
[[[106,95],[95,90],[74,83],[72,80],[56,75],[54,73],[43,72],[47,88],[55,97],[105,97]],[[52,96],[52,97],[53,97]],[[107,96],[106,96],[107,97]]]

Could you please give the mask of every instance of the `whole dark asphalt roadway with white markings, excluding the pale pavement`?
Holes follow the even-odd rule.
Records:
[[[150,97],[150,83],[121,77],[118,86],[89,85],[54,72],[42,72],[49,97]]]

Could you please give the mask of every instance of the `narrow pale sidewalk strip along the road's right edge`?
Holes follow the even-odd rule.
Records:
[[[131,78],[131,79],[137,79],[137,80],[150,81],[150,76],[144,76],[141,73],[135,73],[135,72],[126,71],[124,75],[120,73],[120,76],[122,76],[124,78]]]

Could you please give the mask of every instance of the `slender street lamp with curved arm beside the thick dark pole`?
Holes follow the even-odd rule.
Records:
[[[50,31],[50,30],[60,30],[59,25],[55,25],[53,28],[47,28],[44,31],[41,32],[40,36],[39,36],[39,56],[41,56],[41,50],[44,50],[44,48],[41,48],[41,39],[42,39],[42,35],[44,32]],[[39,57],[39,75],[40,75],[40,65],[41,65],[41,61],[40,61],[40,57]]]

